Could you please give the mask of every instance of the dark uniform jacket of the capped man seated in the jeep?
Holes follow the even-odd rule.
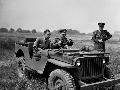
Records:
[[[58,44],[59,41],[61,41],[61,44]],[[73,41],[71,39],[68,40],[67,38],[57,38],[57,41],[55,41],[52,44],[52,48],[54,49],[66,48],[65,45],[72,46]]]

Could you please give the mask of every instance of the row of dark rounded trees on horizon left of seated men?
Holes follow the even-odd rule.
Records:
[[[18,28],[17,30],[10,28],[8,30],[7,28],[0,28],[0,33],[13,33],[13,32],[18,32],[18,33],[37,33],[36,29],[33,29],[32,31],[30,30],[23,30],[22,28]]]

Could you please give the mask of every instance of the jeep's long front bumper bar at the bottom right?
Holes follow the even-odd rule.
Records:
[[[101,81],[97,83],[85,84],[83,86],[80,86],[80,90],[101,90],[101,88],[110,88],[118,83],[120,83],[120,78],[108,79],[106,81]]]

